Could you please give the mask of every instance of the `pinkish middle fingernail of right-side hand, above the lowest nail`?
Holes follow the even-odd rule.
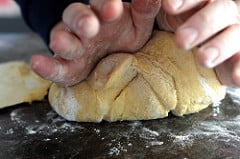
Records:
[[[181,31],[181,37],[184,41],[183,48],[188,50],[191,49],[198,37],[198,32],[194,28],[184,28]]]

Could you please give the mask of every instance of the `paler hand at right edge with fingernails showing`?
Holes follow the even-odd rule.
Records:
[[[160,27],[176,33],[179,47],[198,46],[198,62],[215,67],[223,84],[240,86],[240,1],[183,2],[162,0],[163,10],[157,17]]]

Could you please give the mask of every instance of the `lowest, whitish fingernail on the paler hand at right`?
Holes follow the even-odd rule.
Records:
[[[205,61],[204,64],[208,68],[213,68],[217,65],[217,58],[219,56],[219,51],[215,47],[208,47],[204,50],[202,50],[204,56],[205,56]]]

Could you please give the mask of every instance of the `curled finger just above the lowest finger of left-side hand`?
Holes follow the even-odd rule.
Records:
[[[82,41],[67,31],[63,23],[52,29],[49,47],[55,55],[67,60],[79,59],[84,52]]]

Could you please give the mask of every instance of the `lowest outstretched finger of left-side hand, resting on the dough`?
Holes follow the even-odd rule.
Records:
[[[85,60],[74,62],[35,55],[31,58],[30,64],[34,72],[42,78],[62,86],[71,86],[80,82],[86,78],[89,71],[85,71]]]

